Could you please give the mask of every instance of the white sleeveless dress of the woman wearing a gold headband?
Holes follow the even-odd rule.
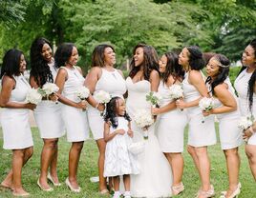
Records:
[[[228,86],[228,91],[238,102],[235,90],[228,77],[224,80],[224,83]],[[214,104],[216,106],[215,108],[223,106],[221,101],[216,97],[214,97]],[[219,120],[219,133],[222,149],[237,148],[243,144],[242,131],[238,128],[240,116],[239,108],[232,112],[216,114],[216,117]]]

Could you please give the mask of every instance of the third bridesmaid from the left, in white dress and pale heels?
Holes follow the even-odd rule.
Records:
[[[89,138],[86,102],[75,96],[77,88],[83,86],[82,70],[76,66],[78,51],[72,43],[60,45],[55,52],[55,66],[58,68],[55,84],[59,88],[58,99],[63,103],[61,115],[67,130],[67,140],[72,143],[69,152],[69,177],[65,183],[74,192],[80,192],[77,183],[77,168],[83,143]]]

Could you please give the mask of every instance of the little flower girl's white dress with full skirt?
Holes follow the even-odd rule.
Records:
[[[104,177],[113,177],[124,174],[138,174],[139,163],[128,147],[132,138],[127,134],[128,121],[124,117],[118,117],[117,129],[124,129],[126,133],[117,134],[107,142],[105,151]],[[117,129],[110,128],[110,133]]]

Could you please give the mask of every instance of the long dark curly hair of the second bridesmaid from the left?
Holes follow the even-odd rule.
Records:
[[[45,44],[48,44],[52,49],[51,43],[45,38],[36,38],[31,47],[31,76],[34,77],[39,87],[42,87],[47,82],[53,83],[52,71],[48,66],[48,62],[42,56],[42,48]]]

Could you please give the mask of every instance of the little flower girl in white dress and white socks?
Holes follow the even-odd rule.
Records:
[[[114,97],[106,107],[104,115],[104,139],[107,142],[105,152],[104,177],[114,177],[114,198],[120,197],[119,176],[123,176],[125,198],[130,198],[130,174],[139,173],[139,164],[129,152],[132,143],[130,116],[125,111],[124,100]]]

